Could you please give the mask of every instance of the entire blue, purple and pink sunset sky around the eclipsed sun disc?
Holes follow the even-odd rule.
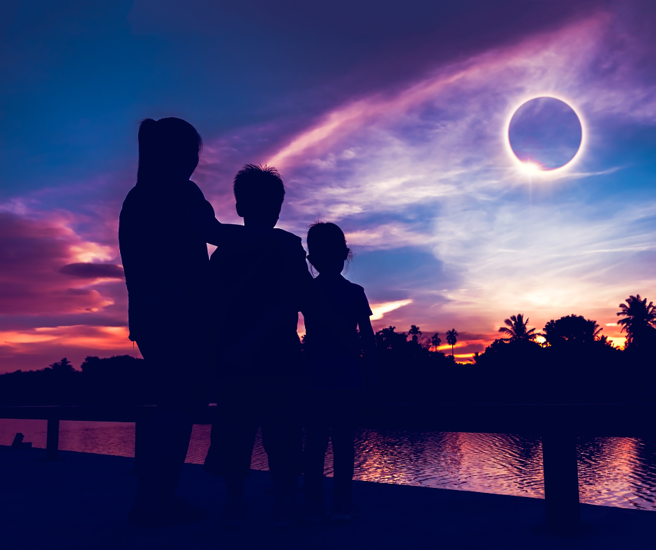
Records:
[[[576,313],[621,344],[618,304],[656,301],[656,3],[1,10],[0,372],[138,354],[117,228],[146,117],[200,131],[192,179],[220,221],[240,222],[234,172],[269,163],[288,188],[279,227],[338,223],[375,329],[444,341],[455,327],[464,359],[509,315],[542,329]],[[574,161],[549,174],[508,144],[537,96],[583,127]]]

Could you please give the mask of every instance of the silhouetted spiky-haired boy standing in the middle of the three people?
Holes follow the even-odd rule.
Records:
[[[297,403],[301,294],[311,281],[300,237],[274,228],[285,198],[275,168],[246,165],[234,178],[243,231],[211,255],[218,324],[218,410],[204,469],[228,490],[225,521],[245,521],[244,480],[250,475],[258,426],[269,457],[279,525],[295,521],[300,471]]]

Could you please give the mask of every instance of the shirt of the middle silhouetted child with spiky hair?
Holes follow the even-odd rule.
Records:
[[[210,260],[219,376],[298,376],[298,312],[311,282],[300,237],[233,226]]]

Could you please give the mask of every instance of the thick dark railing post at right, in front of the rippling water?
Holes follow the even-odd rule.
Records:
[[[556,533],[574,533],[581,523],[576,436],[556,432],[544,434],[542,468],[546,524]]]

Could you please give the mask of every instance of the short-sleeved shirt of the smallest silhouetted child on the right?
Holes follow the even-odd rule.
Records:
[[[305,319],[306,384],[310,389],[361,389],[358,320],[371,315],[364,288],[319,274],[309,285]]]

